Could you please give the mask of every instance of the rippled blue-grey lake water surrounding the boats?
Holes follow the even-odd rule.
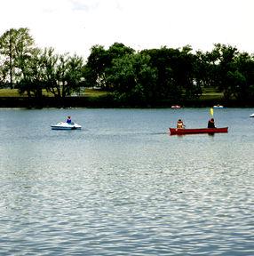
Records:
[[[253,255],[253,112],[1,109],[0,255]]]

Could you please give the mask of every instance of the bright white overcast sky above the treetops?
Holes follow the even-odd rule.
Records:
[[[0,0],[0,36],[29,28],[38,47],[86,58],[115,42],[135,50],[210,51],[230,44],[254,53],[254,0]]]

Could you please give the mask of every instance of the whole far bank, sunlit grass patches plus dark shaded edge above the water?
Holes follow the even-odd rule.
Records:
[[[182,107],[212,107],[224,105],[226,107],[254,107],[254,102],[242,102],[240,100],[223,100],[222,93],[212,90],[205,91],[198,100],[186,100],[183,102],[171,102],[160,100],[153,104],[141,104],[140,102],[119,102],[114,97],[100,90],[85,89],[82,95],[73,95],[65,99],[57,99],[52,94],[43,93],[42,98],[28,98],[20,95],[15,89],[0,89],[0,108],[171,108],[171,105],[179,104]]]

